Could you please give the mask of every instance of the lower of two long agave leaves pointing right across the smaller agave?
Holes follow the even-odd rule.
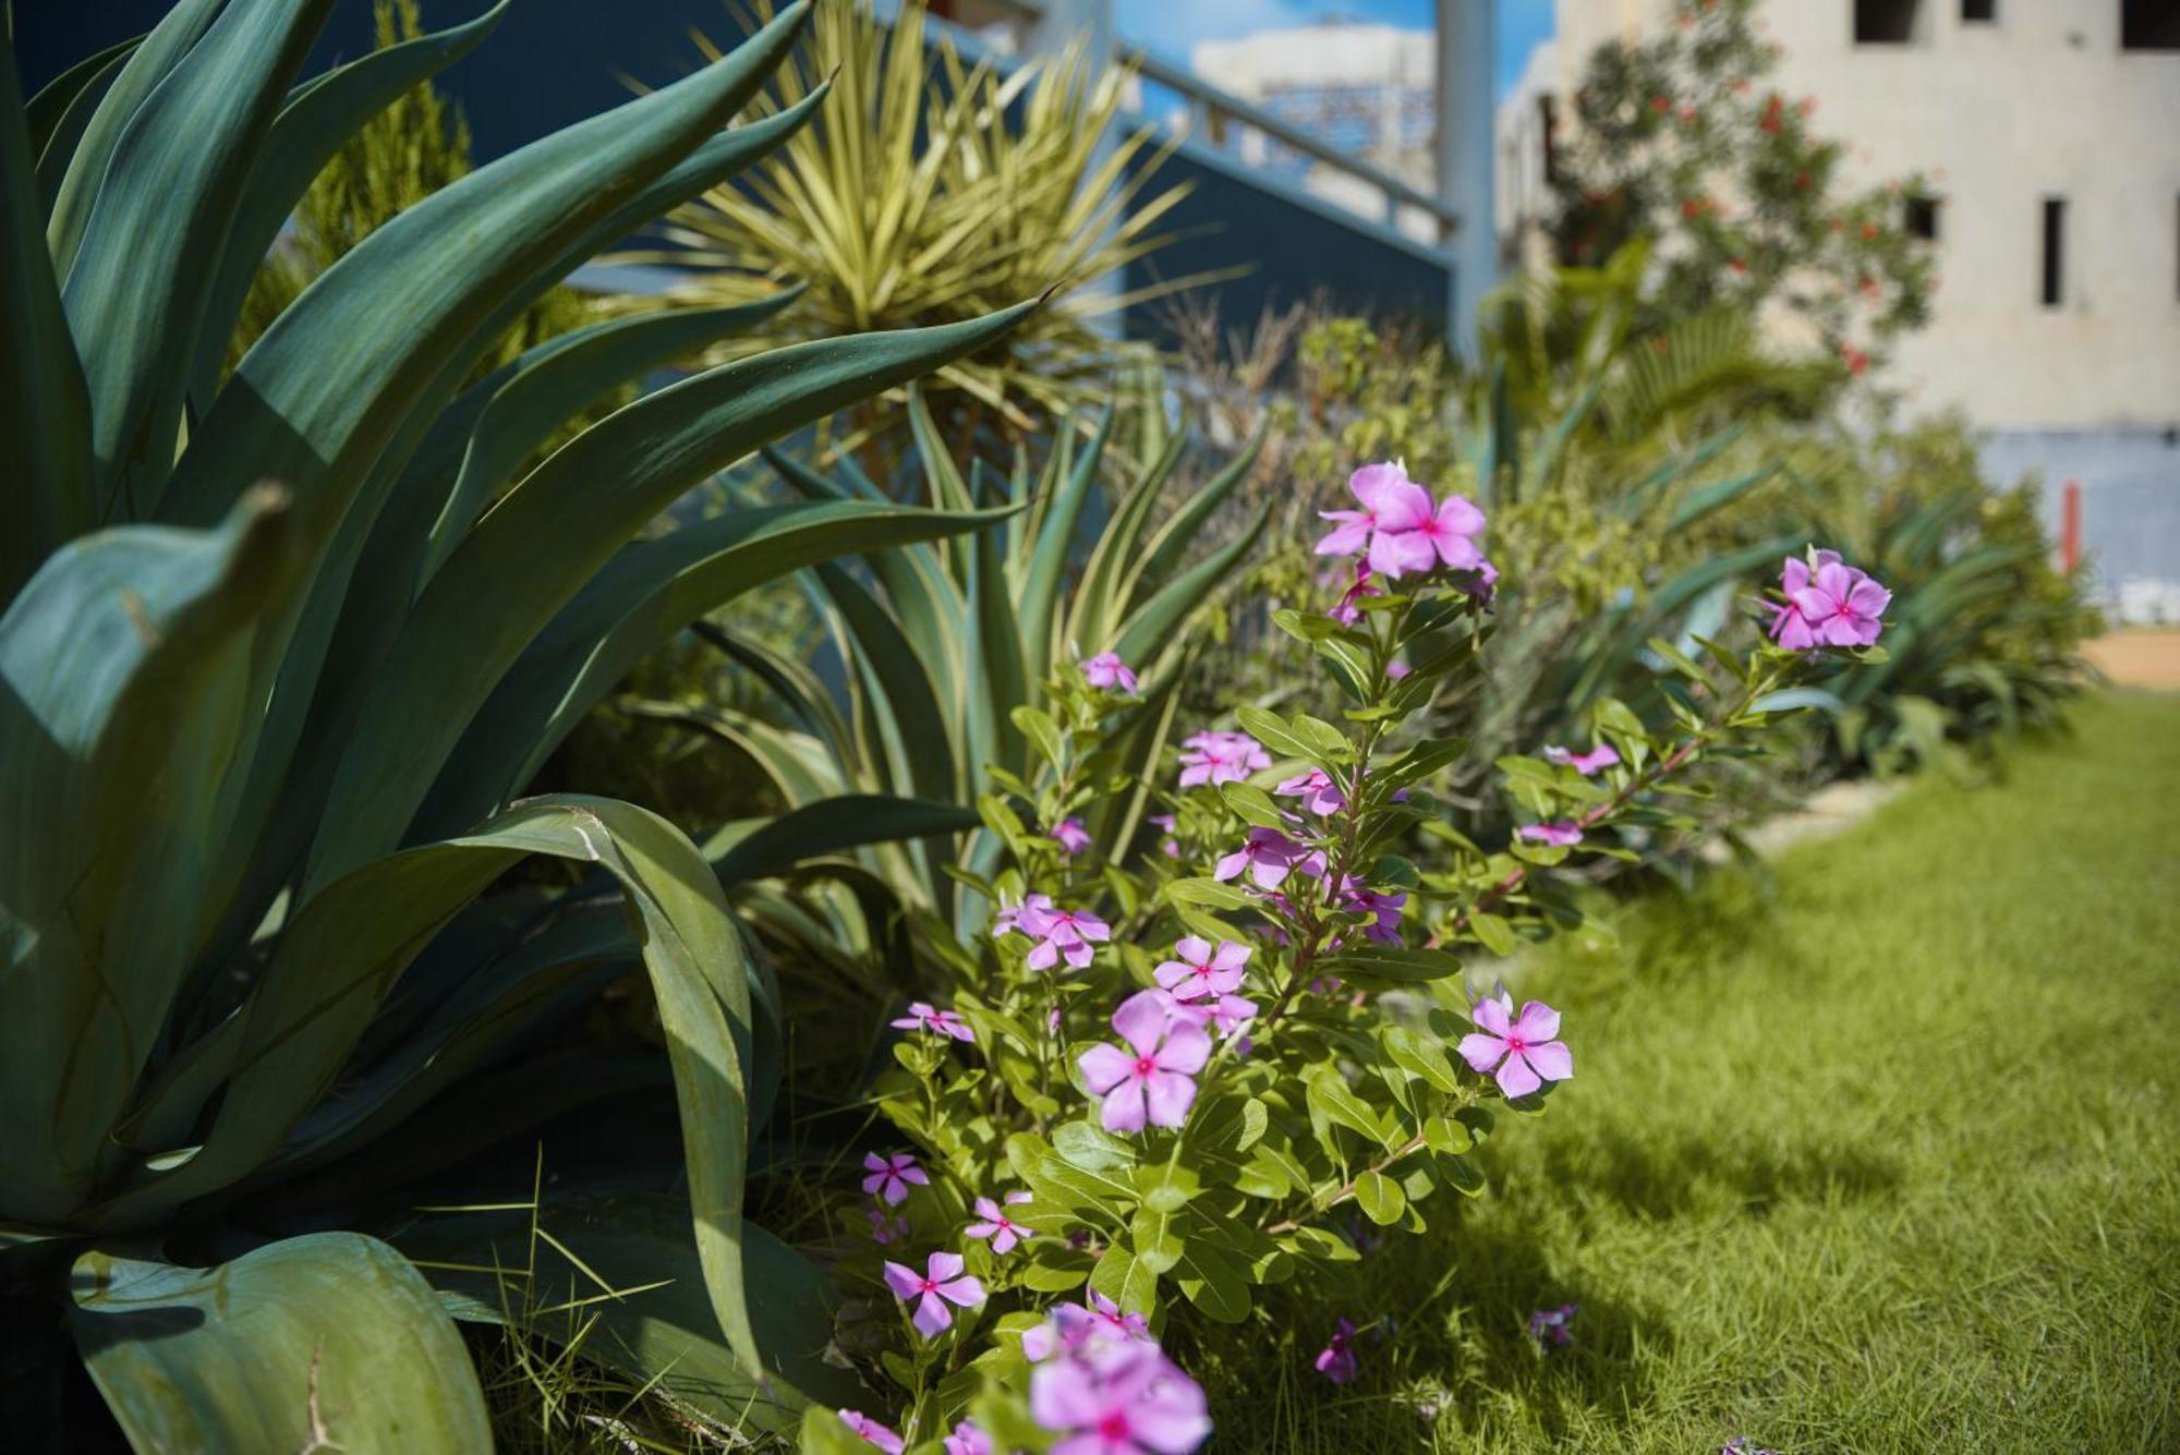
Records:
[[[695,521],[626,547],[554,616],[486,699],[416,832],[453,832],[521,793],[643,656],[743,590],[850,551],[955,536],[996,521],[996,514],[861,501],[796,503]]]

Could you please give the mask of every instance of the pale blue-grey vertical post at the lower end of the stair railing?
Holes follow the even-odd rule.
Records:
[[[1439,0],[1439,196],[1452,203],[1448,342],[1476,357],[1476,305],[1498,281],[1493,0]]]

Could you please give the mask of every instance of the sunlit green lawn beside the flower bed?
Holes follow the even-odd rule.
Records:
[[[2180,1448],[2180,699],[1622,932],[1517,987],[1576,1080],[1480,1202],[1182,1355],[1212,1448]],[[1345,1390],[1339,1313],[1397,1320]]]

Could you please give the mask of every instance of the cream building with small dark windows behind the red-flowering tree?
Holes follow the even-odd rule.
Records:
[[[1958,407],[2001,475],[2040,470],[2130,619],[2180,621],[2180,0],[1768,0],[1770,83],[1814,96],[1844,181],[1921,172],[1901,227],[1942,285],[1897,346],[1912,407]],[[1548,144],[1591,52],[1672,0],[1557,0],[1498,120],[1500,240],[1530,248]]]

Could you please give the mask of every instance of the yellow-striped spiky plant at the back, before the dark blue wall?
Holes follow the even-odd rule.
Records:
[[[772,0],[746,13],[763,20]],[[1149,192],[1171,142],[1114,135],[1129,72],[1101,70],[1081,46],[1005,74],[964,65],[950,39],[933,44],[924,0],[889,17],[870,0],[833,4],[813,30],[809,61],[780,68],[756,111],[798,105],[831,78],[828,113],[735,187],[676,209],[667,250],[630,257],[691,270],[667,296],[678,305],[746,303],[780,277],[811,279],[754,335],[767,344],[977,318],[1055,290],[1005,344],[935,372],[933,414],[961,444],[979,420],[1033,433],[1094,403],[1129,353],[1105,316],[1203,281],[1081,288],[1164,246],[1160,222],[1188,194]],[[907,444],[896,420],[898,409],[857,416],[848,442],[881,436],[892,464]]]

